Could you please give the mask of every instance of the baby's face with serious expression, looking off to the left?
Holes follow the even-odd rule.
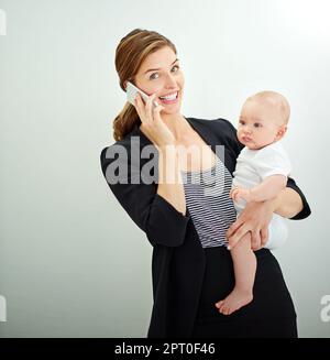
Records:
[[[251,150],[258,150],[283,138],[286,126],[274,107],[261,101],[246,101],[238,127],[239,141]]]

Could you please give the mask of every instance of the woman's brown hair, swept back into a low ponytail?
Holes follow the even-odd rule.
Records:
[[[165,36],[155,31],[135,29],[124,36],[116,51],[116,69],[120,87],[125,91],[128,80],[134,84],[134,76],[139,72],[147,55],[169,46],[175,53],[175,45]],[[122,140],[138,121],[138,112],[130,102],[127,102],[121,112],[113,120],[113,138]]]

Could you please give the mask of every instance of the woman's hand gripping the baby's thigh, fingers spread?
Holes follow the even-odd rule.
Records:
[[[252,250],[264,247],[268,240],[268,223],[273,216],[274,206],[274,200],[246,204],[240,217],[227,231],[228,248],[234,248],[249,231],[251,232]]]

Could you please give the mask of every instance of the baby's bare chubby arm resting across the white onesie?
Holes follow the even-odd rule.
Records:
[[[271,175],[266,177],[260,185],[250,189],[234,187],[230,196],[234,201],[243,198],[246,203],[250,201],[265,201],[276,197],[282,189],[286,187],[287,176]]]

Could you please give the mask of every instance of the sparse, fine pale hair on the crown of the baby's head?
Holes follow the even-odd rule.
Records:
[[[290,117],[290,106],[283,95],[276,91],[261,91],[249,97],[246,101],[262,101],[263,103],[276,107],[279,111],[279,116],[283,119],[283,122],[285,124],[288,123]]]

